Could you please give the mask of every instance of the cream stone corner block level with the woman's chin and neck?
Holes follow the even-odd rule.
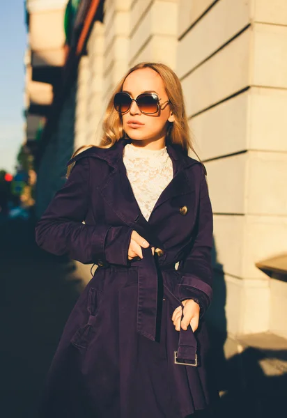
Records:
[[[251,87],[189,121],[202,160],[242,150],[287,150],[287,91]]]

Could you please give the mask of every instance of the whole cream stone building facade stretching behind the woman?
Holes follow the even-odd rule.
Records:
[[[38,216],[63,183],[72,151],[98,144],[107,100],[127,69],[141,61],[170,65],[182,82],[194,146],[208,173],[213,326],[228,335],[226,355],[240,352],[254,335],[258,346],[267,336],[270,349],[278,341],[287,348],[287,283],[256,267],[287,248],[286,1],[82,0],[70,17],[69,40],[66,6],[27,1],[28,132],[37,109],[47,118]]]

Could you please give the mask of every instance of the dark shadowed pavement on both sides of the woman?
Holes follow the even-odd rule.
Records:
[[[0,222],[1,418],[38,417],[49,365],[85,286],[74,263],[37,247],[34,224],[31,219]],[[216,418],[286,417],[286,370],[264,373],[268,354],[250,341],[241,341],[242,353],[226,359],[226,332],[211,330],[210,336],[221,394]],[[285,347],[277,350],[281,359],[286,353]]]

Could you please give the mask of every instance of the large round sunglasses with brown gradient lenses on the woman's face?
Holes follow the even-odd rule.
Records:
[[[114,95],[114,108],[120,113],[125,113],[132,106],[132,102],[136,102],[141,113],[146,115],[156,114],[162,109],[164,103],[170,103],[169,100],[160,104],[157,93],[142,93],[136,99],[130,97],[128,93],[116,93]]]

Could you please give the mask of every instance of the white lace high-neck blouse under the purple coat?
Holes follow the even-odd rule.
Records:
[[[141,213],[148,220],[162,190],[173,178],[171,157],[166,146],[160,150],[149,150],[126,144],[123,162],[134,197]]]

